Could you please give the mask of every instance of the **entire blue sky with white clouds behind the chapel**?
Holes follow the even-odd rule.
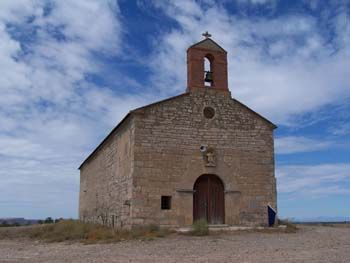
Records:
[[[77,217],[77,167],[131,109],[186,89],[209,31],[275,133],[283,218],[350,216],[350,2],[0,1],[0,217]]]

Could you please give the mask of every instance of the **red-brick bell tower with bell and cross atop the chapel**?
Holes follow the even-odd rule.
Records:
[[[187,91],[195,89],[228,90],[227,52],[208,32],[204,40],[187,49]]]

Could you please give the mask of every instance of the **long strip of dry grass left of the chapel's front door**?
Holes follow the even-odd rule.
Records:
[[[80,241],[108,243],[129,239],[151,240],[169,234],[166,229],[149,225],[128,230],[114,230],[105,226],[62,220],[56,224],[1,229],[1,238],[31,238],[47,242]]]

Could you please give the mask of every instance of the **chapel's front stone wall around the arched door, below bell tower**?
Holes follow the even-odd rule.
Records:
[[[215,116],[203,116],[205,106]],[[228,93],[198,89],[136,111],[132,224],[193,223],[194,182],[215,174],[225,186],[225,223],[266,225],[267,205],[276,209],[274,126]],[[215,149],[216,166],[199,148]],[[162,195],[172,209],[161,210]]]

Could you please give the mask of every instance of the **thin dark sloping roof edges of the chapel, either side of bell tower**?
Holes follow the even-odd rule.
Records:
[[[186,92],[186,93],[182,93],[180,95],[177,95],[177,96],[173,96],[173,97],[170,97],[170,98],[167,98],[167,99],[164,99],[164,100],[160,100],[160,101],[157,101],[157,102],[154,102],[154,103],[151,103],[151,104],[148,104],[148,105],[145,105],[143,107],[139,107],[139,108],[136,108],[134,110],[131,110],[129,111],[129,113],[127,115],[125,115],[125,117],[117,124],[117,126],[115,126],[113,128],[113,130],[102,140],[102,142],[95,148],[95,150],[92,151],[92,153],[81,163],[81,165],[79,166],[79,170],[81,169],[81,167],[92,157],[94,156],[94,154],[102,147],[102,145],[115,133],[118,131],[118,129],[122,126],[123,123],[125,123],[129,118],[131,118],[131,116],[133,116],[134,114],[137,114],[139,112],[142,112],[142,110],[144,109],[147,109],[147,108],[150,108],[152,106],[155,106],[155,105],[159,105],[159,104],[163,104],[165,102],[168,102],[168,101],[171,101],[171,100],[175,100],[175,99],[178,99],[178,98],[181,98],[181,97],[185,97],[185,96],[188,96],[190,94],[190,92]],[[234,98],[231,98],[234,102],[238,103],[239,105],[243,106],[244,108],[246,108],[248,111],[250,111],[251,113],[253,113],[254,115],[256,115],[257,117],[259,117],[260,119],[262,119],[263,121],[265,121],[266,123],[268,123],[269,125],[272,126],[273,129],[276,129],[277,126],[272,123],[271,121],[269,121],[268,119],[266,119],[265,117],[263,117],[262,115],[260,115],[259,113],[255,112],[254,110],[252,110],[251,108],[249,108],[247,105],[243,104],[242,102],[234,99]]]

